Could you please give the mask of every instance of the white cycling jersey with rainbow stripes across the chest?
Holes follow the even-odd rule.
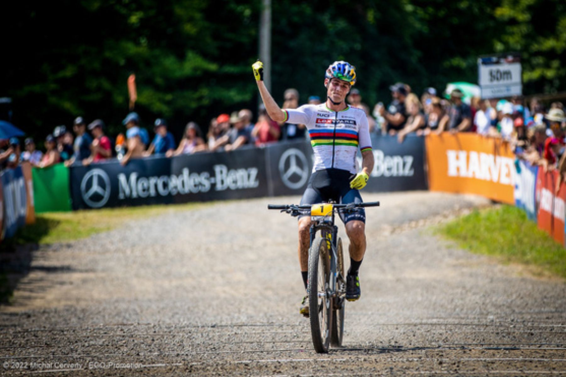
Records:
[[[365,111],[351,106],[333,111],[325,103],[284,111],[285,122],[307,126],[315,155],[312,172],[329,168],[358,172],[355,158],[358,146],[362,152],[371,150]]]

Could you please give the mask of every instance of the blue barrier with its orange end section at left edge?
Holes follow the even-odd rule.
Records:
[[[27,172],[26,172],[27,171]],[[25,173],[24,173],[25,172]],[[14,169],[6,169],[0,174],[0,192],[2,201],[2,237],[13,237],[19,228],[35,222],[33,206],[33,183],[31,167],[23,163]]]

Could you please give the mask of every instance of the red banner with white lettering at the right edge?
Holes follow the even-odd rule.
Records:
[[[557,171],[544,172],[542,167],[538,168],[536,188],[537,223],[540,229],[543,229],[556,241],[560,242],[561,245],[564,245],[566,185],[561,184],[558,195],[556,195],[557,181]]]

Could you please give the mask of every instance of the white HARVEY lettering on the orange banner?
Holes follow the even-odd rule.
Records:
[[[504,185],[513,185],[515,181],[512,158],[465,150],[447,150],[446,154],[449,177],[475,178]]]

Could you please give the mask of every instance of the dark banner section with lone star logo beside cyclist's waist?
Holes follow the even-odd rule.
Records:
[[[302,195],[312,171],[308,141],[280,142],[265,148],[269,196]]]

